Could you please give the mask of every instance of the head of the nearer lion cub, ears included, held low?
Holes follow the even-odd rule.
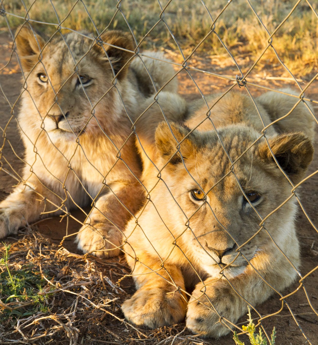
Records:
[[[187,129],[175,125],[172,131],[178,142],[188,134]],[[295,205],[287,202],[260,227],[262,218],[284,203],[293,187],[264,139],[240,157],[259,137],[256,131],[235,125],[218,133],[227,154],[212,131],[193,131],[175,154],[177,142],[166,124],[156,131],[156,145],[163,162],[170,159],[163,178],[181,207],[173,202],[165,214],[174,236],[179,236],[177,244],[210,276],[218,278],[220,269],[228,265],[223,272],[231,278],[244,271],[271,237],[279,240],[283,236],[294,221]],[[288,178],[297,184],[312,159],[310,140],[300,133],[284,134],[271,137],[269,145]]]

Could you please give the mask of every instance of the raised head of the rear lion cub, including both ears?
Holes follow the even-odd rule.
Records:
[[[108,31],[101,39],[133,49],[131,40],[120,31]],[[130,53],[76,33],[56,34],[47,43],[26,27],[17,31],[16,45],[26,77],[22,111],[32,112],[28,127],[44,129],[56,142],[107,126],[105,113],[114,110],[116,114],[114,73],[122,69],[117,80],[124,78]]]

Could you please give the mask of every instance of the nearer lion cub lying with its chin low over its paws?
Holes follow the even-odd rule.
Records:
[[[267,125],[296,101],[272,92],[256,104]],[[247,303],[264,302],[297,276],[297,202],[285,201],[312,160],[314,119],[301,103],[267,129],[271,151],[291,184],[264,138],[248,149],[264,127],[248,97],[232,92],[212,108],[218,134],[206,108],[191,112],[198,102],[189,107],[187,121],[191,128],[203,121],[198,129],[163,123],[156,130],[152,158],[160,173],[145,164],[150,201],[125,230],[137,291],[122,310],[131,322],[152,328],[180,322],[186,314],[194,333],[220,337],[247,312]],[[301,132],[278,134],[294,129],[309,138]],[[186,291],[193,287],[188,301]]]

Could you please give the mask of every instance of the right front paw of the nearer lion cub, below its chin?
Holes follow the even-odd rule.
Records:
[[[215,287],[207,285],[205,290],[200,283],[192,296],[188,304],[187,328],[195,334],[212,338],[219,338],[231,331],[232,325],[225,319],[235,323],[239,318],[239,297],[232,288],[218,287],[216,284]]]

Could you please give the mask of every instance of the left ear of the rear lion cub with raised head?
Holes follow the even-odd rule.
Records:
[[[38,62],[45,41],[31,29],[22,26],[16,31],[15,42],[23,71],[30,72]]]

